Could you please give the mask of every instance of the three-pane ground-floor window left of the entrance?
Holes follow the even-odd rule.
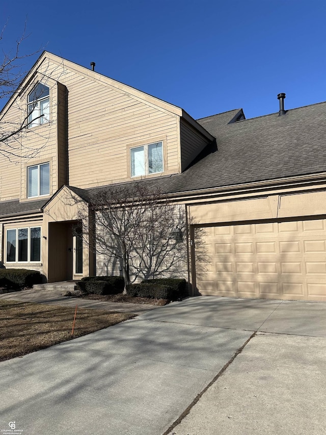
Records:
[[[41,227],[7,229],[7,263],[38,263],[41,261]]]

